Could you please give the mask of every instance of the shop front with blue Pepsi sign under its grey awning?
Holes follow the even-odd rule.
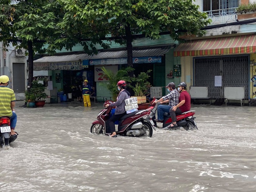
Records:
[[[172,45],[158,46],[158,47],[134,47],[133,48],[133,68],[135,76],[140,72],[149,73],[149,82],[152,86],[163,86],[166,84],[165,74],[165,54],[170,52]],[[88,59],[88,65],[94,66],[94,78],[97,86],[97,95],[110,96],[110,93],[100,82],[106,81],[101,77],[102,66],[112,67],[118,70],[127,66],[127,51],[126,49],[104,50],[98,55],[93,55]]]

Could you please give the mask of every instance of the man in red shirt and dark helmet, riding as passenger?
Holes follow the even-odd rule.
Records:
[[[190,110],[190,107],[191,107],[190,95],[186,91],[186,88],[187,88],[187,84],[185,82],[181,82],[178,85],[178,91],[180,91],[179,103],[178,103],[178,105],[176,105],[170,109],[170,116],[171,116],[172,123],[171,123],[171,125],[168,126],[168,128],[173,128],[173,127],[178,126],[176,123],[176,121],[177,121],[176,114],[177,113],[183,113],[183,112]]]

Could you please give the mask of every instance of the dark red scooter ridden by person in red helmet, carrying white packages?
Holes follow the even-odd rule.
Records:
[[[94,135],[106,134],[106,121],[113,115],[113,107],[106,107],[106,104],[112,104],[110,100],[106,100],[103,104],[105,109],[99,112],[97,120],[93,121],[91,126],[91,133]],[[115,122],[116,134],[131,137],[152,137],[154,122],[150,119],[150,112],[152,108],[145,110],[138,110],[125,114]]]

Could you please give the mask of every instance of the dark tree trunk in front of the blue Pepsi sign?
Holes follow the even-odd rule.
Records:
[[[133,67],[133,60],[132,60],[132,36],[131,36],[131,26],[127,23],[125,26],[125,35],[126,35],[126,49],[127,49],[127,64],[130,67]],[[133,77],[133,71],[129,73],[130,77]]]

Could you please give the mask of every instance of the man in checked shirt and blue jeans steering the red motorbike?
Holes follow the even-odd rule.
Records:
[[[167,91],[169,92],[168,95],[165,95],[161,99],[153,102],[153,104],[160,103],[160,105],[157,107],[157,119],[154,119],[154,121],[159,123],[163,123],[164,121],[164,112],[169,112],[170,109],[178,105],[179,102],[180,93],[176,90],[175,83],[168,83],[168,85],[165,87],[167,87]],[[161,105],[168,102],[168,100],[169,105]]]

